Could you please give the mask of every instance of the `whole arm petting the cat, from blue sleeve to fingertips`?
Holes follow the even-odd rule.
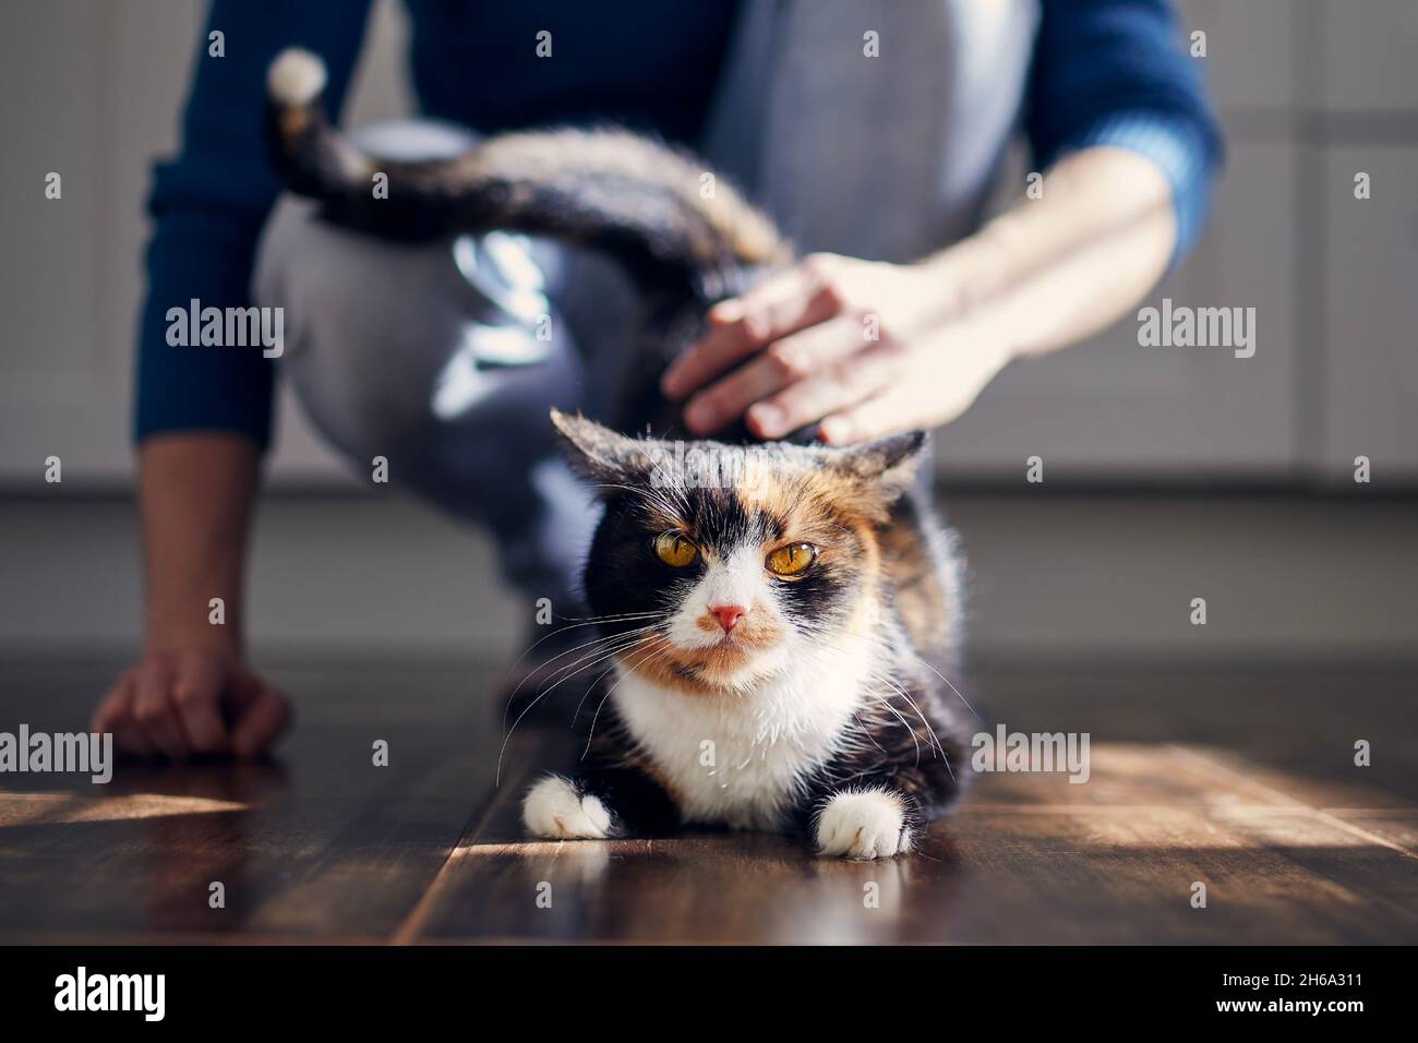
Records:
[[[1219,138],[1170,7],[1066,7],[1045,4],[1031,77],[1042,196],[917,264],[813,255],[719,305],[664,380],[692,431],[740,414],[766,438],[822,420],[828,441],[946,423],[1011,360],[1126,314],[1190,247]]]

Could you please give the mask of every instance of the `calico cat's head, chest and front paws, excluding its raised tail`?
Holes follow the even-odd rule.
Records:
[[[605,504],[584,573],[605,639],[581,654],[615,668],[577,772],[527,793],[527,830],[700,822],[908,850],[968,761],[944,677],[957,559],[915,482],[925,437],[679,453],[553,420]]]

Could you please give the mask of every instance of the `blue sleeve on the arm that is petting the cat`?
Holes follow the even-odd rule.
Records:
[[[1028,133],[1041,169],[1113,145],[1153,160],[1171,184],[1173,264],[1205,224],[1222,159],[1201,67],[1167,0],[1044,0],[1029,79]]]

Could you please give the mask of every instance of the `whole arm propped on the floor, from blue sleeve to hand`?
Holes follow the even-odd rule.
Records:
[[[251,304],[255,245],[279,190],[261,128],[267,65],[292,44],[318,50],[337,106],[366,13],[367,3],[217,0],[180,155],[155,167],[133,409],[145,649],[94,718],[130,754],[254,755],[289,719],[285,698],[244,666],[242,640],[247,521],[269,441],[274,360],[259,346],[170,343],[167,312],[191,301]],[[213,597],[223,599],[221,624],[208,622]]]

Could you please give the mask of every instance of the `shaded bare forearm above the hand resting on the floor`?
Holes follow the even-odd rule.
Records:
[[[242,643],[242,570],[259,453],[247,437],[174,433],[139,453],[147,650]],[[211,599],[223,599],[214,624]]]

